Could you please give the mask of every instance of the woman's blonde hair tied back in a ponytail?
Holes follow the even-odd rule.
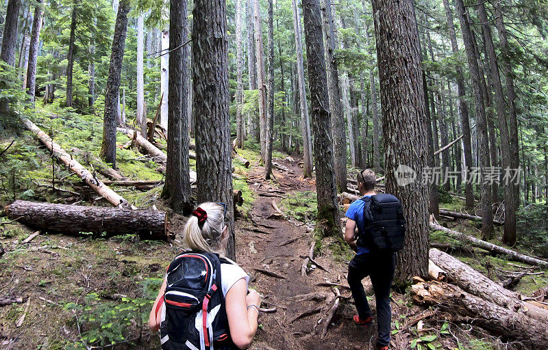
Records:
[[[190,250],[224,254],[221,243],[224,229],[224,207],[214,202],[199,205],[207,213],[207,219],[200,227],[198,217],[191,215],[183,231],[184,243]]]

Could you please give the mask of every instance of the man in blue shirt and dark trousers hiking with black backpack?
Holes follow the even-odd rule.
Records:
[[[399,200],[392,195],[375,193],[373,170],[358,174],[360,200],[350,204],[346,216],[345,241],[356,250],[348,267],[348,283],[356,302],[356,325],[369,327],[373,315],[362,280],[371,277],[377,302],[377,349],[388,350],[390,343],[390,287],[395,271],[395,252],[403,247],[405,219]],[[356,226],[358,234],[356,235]]]

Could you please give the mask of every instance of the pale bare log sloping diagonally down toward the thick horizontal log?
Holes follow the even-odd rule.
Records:
[[[91,187],[95,192],[97,192],[101,197],[105,198],[107,202],[112,204],[113,206],[118,206],[119,208],[123,207],[129,207],[129,204],[127,200],[125,200],[122,196],[120,196],[118,193],[112,191],[108,186],[103,184],[101,180],[95,178],[82,164],[78,163],[71,157],[69,153],[67,153],[65,150],[61,148],[56,142],[53,142],[53,139],[47,135],[47,133],[43,132],[38,126],[36,126],[33,122],[28,120],[27,118],[22,117],[21,121],[25,125],[25,127],[34,133],[38,139],[40,139],[40,142],[44,144],[50,151],[51,156],[55,157],[64,165],[69,167],[69,170],[77,174],[82,180],[84,180],[89,187]]]

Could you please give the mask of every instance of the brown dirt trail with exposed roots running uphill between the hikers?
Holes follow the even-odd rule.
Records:
[[[331,252],[324,249],[324,255],[315,260],[328,269],[329,273],[315,269],[306,276],[301,275],[304,260],[301,256],[307,256],[310,250],[311,229],[304,223],[279,215],[272,202],[279,203],[284,196],[291,196],[291,193],[297,191],[314,191],[315,185],[313,181],[302,178],[302,170],[297,161],[286,159],[276,162],[281,165],[275,170],[276,181],[263,180],[262,167],[255,167],[249,174],[249,185],[258,195],[251,211],[254,222],[240,220],[236,225],[239,231],[236,243],[238,263],[253,276],[251,287],[264,295],[263,307],[277,308],[276,312],[260,315],[262,329],[252,347],[268,350],[369,349],[369,342],[374,340],[374,328],[354,326],[351,317],[355,308],[344,299],[338,314],[329,325],[327,337],[321,340],[323,319],[334,294],[329,288],[316,284],[329,281],[347,285],[347,265],[336,262]],[[292,239],[297,240],[280,246]],[[271,271],[284,278],[275,278],[256,269]],[[340,292],[344,297],[350,296],[345,288],[340,289]],[[327,300],[292,299],[308,293],[325,295]],[[302,312],[316,308],[322,308],[322,311],[292,322]]]

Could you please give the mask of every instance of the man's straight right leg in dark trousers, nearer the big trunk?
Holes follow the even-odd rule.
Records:
[[[392,308],[390,308],[390,288],[394,279],[395,255],[377,259],[379,269],[371,273],[371,284],[375,290],[375,300],[377,301],[377,330],[379,338],[377,347],[387,346],[390,342],[390,321],[392,318]]]

